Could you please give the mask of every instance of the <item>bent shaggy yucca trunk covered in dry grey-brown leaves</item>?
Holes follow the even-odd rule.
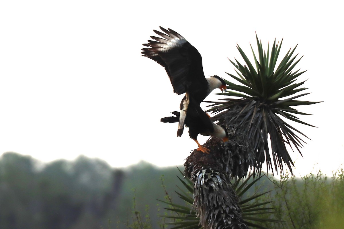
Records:
[[[204,144],[210,154],[194,150],[184,164],[184,174],[194,186],[193,208],[203,229],[248,228],[230,176],[246,176],[254,158],[247,141],[233,131],[231,135],[232,141],[227,146],[219,139],[210,139]]]

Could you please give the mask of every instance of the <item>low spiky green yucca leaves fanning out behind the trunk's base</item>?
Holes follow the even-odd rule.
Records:
[[[253,177],[252,175],[253,174],[250,174],[245,181],[243,180],[235,181],[232,185],[232,188],[239,197],[239,205],[242,210],[243,222],[250,227],[267,229],[266,227],[260,226],[259,222],[266,222],[266,221],[278,222],[278,220],[260,218],[260,217],[257,217],[256,215],[272,213],[271,210],[273,210],[273,208],[264,207],[264,205],[267,205],[271,202],[262,202],[262,203],[256,203],[256,204],[252,204],[252,202],[256,198],[262,195],[265,195],[269,193],[270,191],[260,193],[260,194],[254,194],[251,197],[246,197],[249,188],[252,187],[263,176],[261,175],[257,177],[256,179],[252,179]],[[179,198],[181,198],[185,202],[185,205],[178,205],[172,202],[160,200],[161,202],[171,206],[169,208],[165,208],[166,210],[169,210],[171,211],[171,213],[174,213],[172,215],[161,216],[161,217],[170,218],[174,220],[173,222],[168,222],[164,224],[174,225],[174,227],[170,229],[202,228],[200,224],[200,218],[197,217],[196,212],[194,211],[194,209],[192,209],[192,205],[194,203],[194,198],[193,198],[194,188],[193,188],[192,182],[187,178],[181,179],[179,176],[178,178],[183,186],[182,187],[177,186],[179,188],[179,191],[178,192],[176,191],[176,193],[179,195]]]

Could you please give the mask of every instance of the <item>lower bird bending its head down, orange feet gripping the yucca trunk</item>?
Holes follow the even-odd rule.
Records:
[[[174,111],[171,117],[161,118],[163,123],[176,123],[179,122],[180,112]],[[220,137],[226,145],[228,142],[228,132],[225,126],[219,126],[213,123],[210,120],[209,115],[202,111],[200,106],[193,106],[193,103],[190,103],[187,116],[185,118],[185,126],[189,127],[189,136],[192,138],[198,145],[198,151],[204,153],[209,153],[209,149],[203,147],[197,140],[198,134],[203,136],[213,136]]]

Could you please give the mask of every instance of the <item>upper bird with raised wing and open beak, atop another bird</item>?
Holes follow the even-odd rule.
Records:
[[[202,66],[202,56],[179,33],[160,26],[164,32],[153,30],[160,37],[151,36],[154,41],[143,44],[149,48],[142,48],[142,56],[146,56],[163,66],[170,78],[173,91],[177,94],[185,93],[180,104],[180,120],[177,136],[181,136],[190,101],[200,105],[206,96],[214,89],[226,91],[226,83],[218,76],[205,78]]]

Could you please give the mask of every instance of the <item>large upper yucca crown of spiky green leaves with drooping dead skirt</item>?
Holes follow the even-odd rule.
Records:
[[[293,72],[293,68],[302,58],[296,59],[297,54],[293,56],[296,46],[288,51],[276,67],[283,39],[281,44],[276,44],[275,39],[272,49],[269,50],[268,46],[267,52],[265,52],[257,35],[256,38],[258,55],[255,54],[251,46],[254,57],[253,64],[239,45],[237,49],[244,59],[245,65],[241,64],[237,59],[235,61],[230,60],[235,66],[238,76],[227,74],[243,85],[237,85],[225,80],[228,85],[228,92],[221,94],[225,95],[226,98],[219,99],[218,102],[212,102],[213,104],[210,106],[213,107],[209,111],[217,113],[213,117],[214,121],[219,121],[219,124],[224,124],[228,128],[232,127],[237,131],[242,131],[248,136],[256,155],[257,166],[255,169],[257,172],[261,171],[262,164],[265,161],[267,162],[268,171],[273,172],[272,160],[276,171],[278,171],[278,167],[282,170],[283,163],[286,163],[292,172],[291,165],[293,165],[293,162],[286,145],[295,147],[301,153],[300,147],[303,146],[304,141],[299,135],[305,138],[308,137],[292,127],[288,119],[312,126],[300,121],[295,116],[295,114],[307,114],[299,112],[294,106],[310,105],[318,102],[295,100],[309,93],[292,96],[307,89],[300,88],[305,81],[295,82],[297,77],[305,72],[299,72],[299,70]],[[233,98],[233,96],[236,98]],[[272,159],[268,139],[270,139]]]

